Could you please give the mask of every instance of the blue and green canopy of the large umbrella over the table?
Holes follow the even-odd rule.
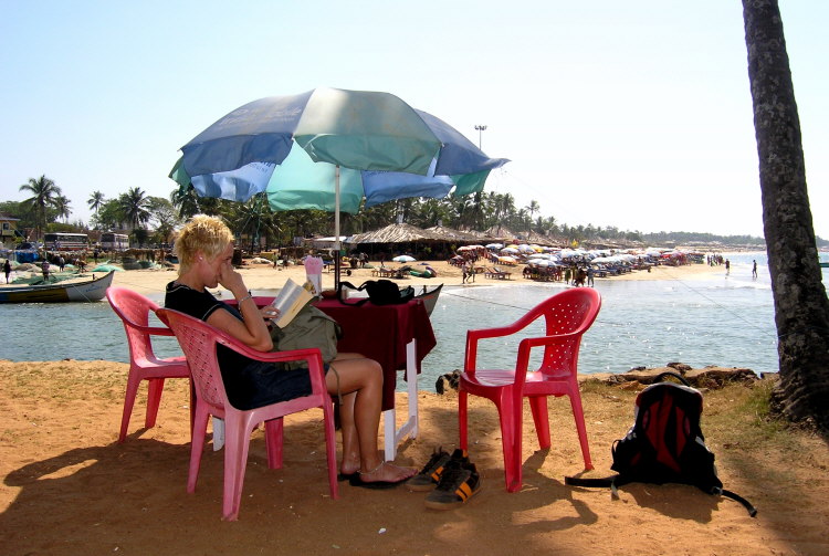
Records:
[[[370,207],[481,191],[507,162],[395,95],[336,88],[249,103],[181,151],[170,177],[200,196],[246,201],[266,191],[274,210],[353,213],[364,197]]]

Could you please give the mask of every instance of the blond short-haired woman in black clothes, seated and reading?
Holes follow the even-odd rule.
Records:
[[[167,285],[165,306],[200,318],[254,349],[273,348],[267,322],[279,318],[271,306],[259,308],[242,275],[231,265],[233,234],[214,217],[195,216],[176,241],[178,279]],[[237,307],[213,297],[208,287],[221,284],[237,300]],[[307,369],[283,369],[255,361],[230,349],[218,353],[219,367],[230,402],[239,409],[285,401],[311,394]],[[340,479],[367,487],[393,486],[417,470],[382,461],[377,450],[380,423],[382,369],[359,354],[339,354],[325,366],[328,392],[340,395],[343,431]]]

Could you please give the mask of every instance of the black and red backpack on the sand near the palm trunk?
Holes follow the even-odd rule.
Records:
[[[674,377],[682,384],[663,382]],[[700,428],[702,394],[675,373],[662,373],[655,382],[639,392],[636,422],[628,434],[613,442],[613,464],[618,474],[606,479],[565,478],[574,486],[610,486],[628,483],[691,484],[709,494],[722,494],[743,504],[752,517],[757,510],[744,497],[723,489],[716,474],[714,454],[705,445]]]

